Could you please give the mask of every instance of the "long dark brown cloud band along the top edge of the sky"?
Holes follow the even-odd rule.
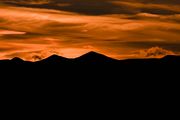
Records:
[[[2,2],[18,6],[64,10],[88,15],[134,14],[138,12],[147,12],[154,14],[180,13],[180,11],[166,9],[159,6],[154,6],[153,8],[135,6],[136,3],[142,3],[145,6],[148,6],[148,4],[177,5],[180,3],[179,0],[2,0]],[[126,2],[135,5],[127,6],[127,4],[114,4],[114,2]]]

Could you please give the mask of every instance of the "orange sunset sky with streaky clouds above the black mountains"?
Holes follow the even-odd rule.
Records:
[[[180,0],[0,0],[0,59],[180,54]]]

